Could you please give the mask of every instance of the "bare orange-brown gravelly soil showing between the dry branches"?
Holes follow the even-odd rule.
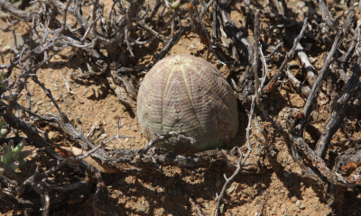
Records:
[[[104,1],[110,6],[111,1]],[[293,8],[293,13],[297,14],[294,6],[295,1],[290,1],[289,6]],[[236,4],[236,9],[232,14],[234,20],[243,21],[244,17],[240,14],[240,4]],[[182,5],[183,9],[185,5]],[[359,14],[358,9],[357,14]],[[70,19],[70,18],[69,18]],[[4,20],[0,20],[2,26]],[[251,31],[250,31],[251,32]],[[29,27],[25,23],[19,23],[17,26],[17,35],[26,38],[29,37]],[[280,34],[281,35],[281,34]],[[264,36],[264,35],[263,35]],[[264,36],[265,37],[265,36]],[[265,39],[265,38],[264,38]],[[11,32],[0,31],[0,45],[5,42],[12,43],[13,36]],[[272,42],[267,41],[266,42]],[[10,45],[11,46],[11,45]],[[143,60],[140,65],[147,65],[153,60],[153,52],[162,49],[162,43],[154,42],[143,46],[142,49],[135,49],[134,52],[144,52]],[[315,67],[319,69],[323,62],[324,47],[313,44],[316,49],[310,51],[310,57],[315,58]],[[287,48],[283,49],[282,52]],[[327,50],[325,50],[327,52]],[[175,45],[169,56],[177,54],[192,54],[205,58],[207,48],[199,42],[199,37],[194,33],[183,36],[180,42]],[[12,54],[8,51],[1,53],[0,63],[8,63]],[[212,57],[210,62],[227,76],[229,72],[227,67],[222,67]],[[294,58],[292,64],[300,65]],[[274,74],[277,66],[269,65]],[[126,148],[142,148],[147,142],[144,139],[139,124],[134,119],[134,114],[130,113],[122,103],[119,103],[116,94],[114,94],[108,85],[106,79],[88,80],[87,83],[81,83],[74,78],[74,74],[79,74],[79,69],[86,70],[87,67],[81,59],[77,58],[75,52],[71,49],[65,49],[59,55],[51,59],[46,67],[38,72],[39,80],[51,90],[60,105],[62,112],[65,112],[69,119],[76,125],[76,119],[81,121],[81,127],[84,134],[88,134],[92,126],[97,126],[95,134],[91,137],[95,142],[106,140],[116,135],[116,124],[118,118],[122,118],[122,123],[127,123],[120,132],[125,136],[134,138],[123,139]],[[299,69],[293,69],[292,72],[297,76]],[[15,73],[16,74],[16,73]],[[70,94],[65,85],[62,74],[74,94]],[[14,78],[14,77],[13,77]],[[45,97],[42,89],[30,81],[28,90],[32,93],[33,112],[45,114],[47,112],[56,112],[54,105]],[[315,126],[322,130],[329,116],[329,98],[324,100],[323,105],[318,107],[319,115],[322,119],[315,122]],[[297,94],[290,84],[280,85],[269,100],[265,101],[270,114],[274,119],[283,121],[280,112],[286,108],[302,108],[305,98]],[[247,118],[245,113],[241,113],[240,130],[233,146],[243,146],[245,144],[245,127]],[[345,125],[355,128],[352,133],[353,139],[360,139],[359,126],[354,124],[358,119],[350,119]],[[264,121],[260,121],[264,125]],[[356,125],[356,126],[355,126]],[[50,128],[42,128],[48,132]],[[256,133],[256,131],[253,131]],[[71,143],[59,136],[60,141],[57,145],[69,146]],[[306,135],[309,142],[312,142],[310,136]],[[345,149],[339,140],[345,139],[343,133],[338,132],[332,139],[332,149]],[[255,140],[253,140],[255,141]],[[257,143],[257,141],[255,141]],[[328,206],[327,197],[324,196],[325,190],[315,180],[304,177],[301,168],[292,160],[292,156],[287,149],[286,143],[276,133],[273,134],[273,142],[279,150],[277,161],[280,168],[276,169],[268,166],[268,169],[260,174],[238,175],[235,182],[227,190],[227,195],[222,204],[223,215],[359,215],[361,212],[361,193],[347,190],[342,199],[342,205]],[[263,155],[259,144],[255,145],[255,155]],[[27,147],[32,148],[32,147]],[[117,141],[107,144],[107,148],[123,148]],[[19,173],[32,174],[35,168],[35,162],[39,159],[34,149],[32,159],[23,166]],[[264,162],[267,164],[267,161]],[[26,172],[26,170],[28,170]],[[65,172],[65,171],[64,171]],[[189,200],[176,186],[177,181],[182,181],[185,190],[197,198],[200,208],[206,215],[210,215],[215,208],[216,193],[220,193],[225,179],[223,175],[232,175],[231,170],[225,170],[220,166],[202,167],[193,170],[181,169],[175,166],[165,166],[162,171],[153,171],[151,175],[125,175],[103,174],[106,182],[107,195],[102,196],[100,201],[101,211],[106,215],[196,215],[195,209],[191,206]],[[63,175],[65,175],[63,173]],[[62,181],[57,179],[59,175],[48,179],[49,182],[56,183]],[[70,178],[76,178],[75,174],[69,174]],[[70,202],[70,201],[69,201]],[[257,214],[258,213],[258,214]],[[7,212],[5,215],[21,214],[21,212]],[[51,209],[51,215],[91,215],[92,202],[84,202],[83,205],[64,205]]]

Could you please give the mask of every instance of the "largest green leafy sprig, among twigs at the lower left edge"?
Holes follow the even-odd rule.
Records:
[[[28,157],[32,154],[32,150],[23,150],[25,146],[26,140],[23,139],[14,146],[13,139],[6,144],[3,144],[3,148],[1,151],[0,160],[11,170],[17,169],[19,166],[23,166],[26,161],[24,160],[25,157]],[[5,174],[5,169],[0,167],[0,176]]]

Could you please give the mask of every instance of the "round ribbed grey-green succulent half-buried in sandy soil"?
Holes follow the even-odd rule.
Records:
[[[203,58],[163,58],[147,73],[138,92],[137,116],[147,139],[170,131],[196,140],[176,138],[160,148],[194,154],[222,148],[238,130],[236,96],[216,67]]]

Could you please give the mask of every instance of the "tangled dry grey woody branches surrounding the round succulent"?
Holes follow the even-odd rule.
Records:
[[[8,170],[8,176],[19,187],[17,190],[5,188],[4,191],[0,191],[2,202],[13,203],[14,208],[17,210],[39,208],[39,203],[24,201],[19,198],[24,188],[31,186],[36,193],[41,195],[42,215],[49,215],[50,206],[55,206],[65,199],[65,196],[54,199],[51,197],[50,191],[58,190],[65,194],[65,192],[79,188],[87,188],[87,185],[91,184],[95,179],[97,192],[93,197],[93,202],[94,211],[97,215],[97,195],[101,192],[103,184],[101,175],[97,168],[88,166],[82,160],[84,157],[91,155],[91,157],[99,159],[103,165],[109,166],[116,172],[126,172],[133,175],[143,175],[145,172],[144,167],[162,169],[162,166],[166,165],[192,168],[218,164],[235,169],[235,174],[230,178],[226,178],[226,184],[217,198],[218,205],[215,211],[215,215],[217,215],[227,185],[231,183],[234,177],[239,173],[256,173],[261,169],[257,163],[247,163],[248,156],[252,151],[249,130],[253,125],[264,136],[260,141],[263,142],[266,151],[272,152],[273,144],[267,135],[267,130],[261,129],[257,125],[256,118],[253,121],[255,112],[262,113],[264,119],[269,121],[273,128],[286,140],[293,159],[299,163],[307,175],[323,183],[340,187],[355,188],[356,185],[361,184],[360,150],[351,149],[342,152],[336,157],[336,163],[333,167],[326,166],[324,159],[325,153],[329,149],[330,140],[340,128],[342,121],[344,121],[347,109],[350,106],[356,106],[357,108],[359,107],[358,104],[360,104],[359,76],[361,57],[358,47],[360,24],[355,24],[356,13],[353,8],[353,1],[348,4],[347,18],[340,27],[338,27],[338,21],[329,14],[324,0],[318,1],[322,23],[317,23],[319,20],[312,19],[312,17],[305,18],[303,23],[293,20],[287,14],[287,5],[284,0],[272,1],[273,4],[271,5],[277,10],[277,13],[268,11],[266,8],[252,9],[254,7],[250,7],[250,1],[245,1],[242,13],[246,17],[246,22],[242,26],[231,18],[232,1],[209,0],[205,3],[202,0],[190,0],[188,12],[173,11],[170,4],[167,1],[165,2],[162,5],[159,0],[154,4],[153,8],[149,8],[149,5],[144,4],[144,0],[114,1],[111,10],[108,14],[105,14],[105,6],[98,0],[68,0],[66,4],[59,0],[33,1],[31,10],[27,11],[14,7],[6,0],[0,0],[1,9],[12,17],[29,23],[32,34],[29,44],[18,46],[15,42],[15,46],[11,49],[14,58],[10,63],[0,65],[0,69],[5,71],[5,78],[12,76],[14,68],[21,71],[13,83],[9,83],[7,87],[0,90],[1,115],[11,128],[23,131],[32,145],[40,148],[39,151],[59,161],[56,166],[45,171],[42,171],[40,166],[37,166],[34,174],[26,180]],[[164,10],[159,14],[160,8],[168,8],[170,16],[163,16]],[[159,20],[152,26],[155,15],[158,15],[159,19],[164,19],[162,26],[157,26]],[[69,22],[70,16],[76,22]],[[275,28],[285,29],[286,40],[292,47],[288,52],[280,53],[279,49],[283,43],[281,40],[277,44],[271,45],[261,39],[260,34],[269,29],[261,26],[260,19],[269,19],[272,22],[269,27],[270,30]],[[210,21],[211,28],[208,27],[206,21],[208,23]],[[324,25],[324,23],[327,25]],[[313,26],[313,29],[310,26]],[[248,37],[245,28],[253,31],[253,40]],[[42,85],[42,82],[37,78],[37,71],[47,64],[55,54],[62,49],[73,48],[77,50],[80,57],[85,59],[85,64],[88,67],[88,71],[81,73],[78,78],[90,79],[105,76],[121,103],[133,110],[137,86],[140,85],[139,79],[135,77],[142,75],[157,61],[165,57],[171,48],[177,44],[180,37],[189,31],[196,32],[199,35],[199,40],[208,47],[207,58],[209,58],[209,55],[213,55],[219,63],[229,68],[231,72],[230,78],[233,81],[237,97],[240,103],[244,104],[245,109],[250,111],[245,157],[241,151],[208,150],[197,155],[186,156],[177,155],[160,148],[153,148],[155,142],[170,137],[192,140],[174,132],[169,132],[151,140],[148,145],[139,150],[126,148],[122,150],[106,150],[101,145],[94,145],[83,135],[81,130],[74,128],[66,113],[60,110],[51,91]],[[324,65],[319,71],[311,65],[301,46],[300,40],[305,37],[330,47]],[[14,40],[16,40],[16,37]],[[134,48],[152,43],[153,40],[162,42],[162,50],[159,53],[154,53],[154,60],[151,64],[136,65],[134,67],[134,59],[137,61],[142,58],[142,53],[135,53]],[[301,67],[306,72],[308,84],[300,82],[289,70],[289,60],[295,54],[300,59]],[[129,56],[134,59],[130,59]],[[270,78],[266,72],[267,65],[274,57],[282,59],[280,60],[282,64],[278,67],[277,73]],[[339,79],[343,80],[345,85],[330,107],[329,120],[321,132],[316,147],[310,148],[303,138],[303,130],[307,130],[310,126],[310,113],[317,103],[316,98],[320,94],[320,87],[325,78],[329,76],[331,68],[335,67],[338,68]],[[280,83],[280,78],[283,76],[288,77],[300,94],[307,96],[303,111],[291,110],[286,126],[274,121],[268,111],[265,110],[263,103],[270,94],[273,94]],[[23,107],[18,103],[29,78],[32,78],[37,85],[42,87],[44,94],[56,106],[59,112],[58,115],[41,116],[32,112],[31,103],[29,107]],[[236,79],[236,82],[234,79]],[[29,97],[28,100],[31,100],[31,98]],[[14,113],[14,111],[16,112]],[[42,136],[36,127],[20,118],[18,111],[26,112],[26,117],[34,122],[46,122],[54,125],[63,134],[66,134],[69,139],[74,142],[78,141],[84,150],[83,155],[73,156],[64,149],[56,151],[51,142]],[[118,134],[116,139],[119,138],[122,137]],[[272,157],[271,154],[268,157]],[[133,166],[133,168],[124,170],[124,166],[119,166],[125,163]],[[0,162],[0,166],[6,168],[2,162]],[[86,170],[83,172],[87,172],[87,177],[78,183],[65,184],[61,187],[44,181],[46,176],[60,170],[63,166],[69,166],[73,169],[80,166]],[[191,198],[190,202],[196,206]],[[201,211],[198,212],[201,214]]]

